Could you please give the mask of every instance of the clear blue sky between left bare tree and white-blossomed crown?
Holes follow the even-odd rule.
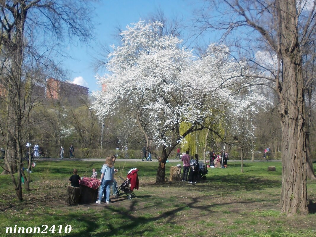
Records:
[[[94,71],[94,56],[100,50],[100,45],[112,45],[117,43],[113,34],[115,27],[120,25],[125,27],[140,19],[146,19],[152,13],[156,13],[161,8],[167,18],[174,15],[183,17],[184,21],[189,21],[193,17],[193,9],[197,7],[195,1],[189,0],[107,0],[96,4],[94,11],[94,21],[96,26],[94,41],[90,47],[85,45],[69,46],[68,52],[72,58],[66,58],[63,67],[69,71],[69,80],[76,84],[89,87],[89,91],[100,90],[96,83]],[[104,74],[104,71],[99,71]]]

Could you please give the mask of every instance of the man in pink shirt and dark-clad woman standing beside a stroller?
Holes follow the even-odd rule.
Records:
[[[195,154],[194,157],[190,157],[189,151],[186,151],[181,160],[183,161],[182,181],[189,181],[190,184],[196,183],[200,167],[198,163],[198,155]]]

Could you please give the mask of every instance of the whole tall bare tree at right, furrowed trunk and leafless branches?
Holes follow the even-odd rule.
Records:
[[[199,19],[205,29],[223,30],[223,39],[234,39],[245,53],[264,49],[277,57],[270,77],[261,74],[273,86],[279,100],[279,116],[282,124],[282,188],[281,212],[288,216],[305,215],[307,208],[307,136],[306,108],[304,100],[304,75],[302,56],[316,30],[315,1],[296,0],[223,0],[210,1],[225,17],[211,18],[206,9]],[[211,11],[211,10],[210,10]],[[213,19],[213,20],[212,20]],[[234,34],[237,33],[238,34]],[[234,34],[234,36],[233,36]],[[249,37],[250,34],[252,37]],[[238,36],[245,36],[238,38]],[[252,41],[255,39],[256,41]],[[315,48],[312,49],[315,51]],[[254,62],[254,57],[243,54],[243,59]],[[272,58],[272,57],[271,57]],[[267,71],[257,63],[261,71]]]

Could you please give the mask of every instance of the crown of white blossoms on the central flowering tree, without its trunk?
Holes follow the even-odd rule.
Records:
[[[235,91],[245,68],[236,62],[225,45],[211,44],[206,54],[196,58],[180,47],[181,40],[161,36],[160,22],[139,21],[121,33],[120,46],[112,46],[108,74],[97,75],[106,92],[96,92],[93,108],[100,117],[125,111],[131,121],[138,118],[151,140],[170,146],[183,122],[192,128],[225,111],[233,117],[256,113],[265,98],[244,89]],[[213,111],[213,112],[212,112]]]

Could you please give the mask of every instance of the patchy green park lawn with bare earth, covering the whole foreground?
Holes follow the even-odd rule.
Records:
[[[139,190],[135,198],[125,195],[110,204],[65,204],[68,179],[74,168],[90,177],[102,161],[40,161],[33,169],[32,191],[24,191],[24,201],[15,198],[9,175],[0,175],[0,236],[46,236],[46,234],[5,234],[6,227],[56,226],[49,236],[316,236],[316,206],[308,216],[280,215],[281,162],[228,161],[227,169],[208,168],[206,181],[190,185],[169,182],[154,185],[157,162],[120,162],[115,167],[125,178],[138,168]],[[166,163],[166,176],[177,163]],[[267,171],[269,165],[276,171]],[[314,167],[316,164],[314,164]],[[100,174],[99,174],[100,175]],[[117,178],[120,184],[120,178]],[[308,199],[316,202],[316,183],[307,181]],[[63,233],[57,234],[63,225]],[[71,225],[69,234],[64,227]],[[49,229],[48,228],[48,229]],[[41,229],[43,230],[43,228]],[[48,232],[50,233],[50,232]]]

